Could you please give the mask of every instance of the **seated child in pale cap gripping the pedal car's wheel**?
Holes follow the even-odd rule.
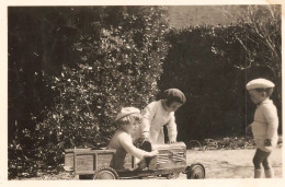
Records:
[[[123,108],[115,119],[117,124],[117,130],[113,138],[110,140],[106,149],[122,150],[138,159],[137,162],[144,161],[145,157],[152,157],[158,154],[158,151],[147,152],[136,148],[133,144],[130,133],[137,129],[138,124],[141,120],[140,110],[135,107]]]

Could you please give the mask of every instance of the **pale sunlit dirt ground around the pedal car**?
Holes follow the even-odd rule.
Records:
[[[213,150],[187,151],[187,163],[201,163],[205,166],[206,178],[253,178],[252,157],[255,150]],[[276,149],[271,155],[275,177],[282,177],[282,149]],[[69,173],[58,175],[42,175],[33,178],[16,178],[15,180],[77,180],[78,176]],[[159,178],[158,178],[159,179]],[[163,179],[163,178],[161,178]],[[178,179],[186,179],[186,175],[180,174]]]

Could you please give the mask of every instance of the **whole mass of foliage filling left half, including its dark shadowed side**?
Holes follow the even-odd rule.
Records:
[[[41,85],[33,90],[36,101],[25,93],[30,101],[29,128],[21,116],[11,115],[16,112],[11,107],[9,178],[22,173],[36,175],[41,165],[55,168],[64,162],[65,149],[105,145],[121,107],[142,108],[159,92],[157,80],[168,50],[164,8],[11,8],[9,13],[11,69],[18,72],[22,68],[23,74],[38,79],[36,85]],[[27,23],[33,23],[36,40],[24,37],[30,36]],[[35,49],[29,48],[25,54],[15,50],[16,45],[24,49],[26,44]],[[39,69],[20,63],[29,61],[31,52],[41,57],[30,60]],[[22,71],[15,77],[10,73],[13,83],[19,73]],[[15,100],[11,94],[10,98],[12,106]],[[43,100],[45,103],[41,103]]]

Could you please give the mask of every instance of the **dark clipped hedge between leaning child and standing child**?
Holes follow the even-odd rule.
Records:
[[[180,140],[240,137],[246,133],[246,126],[253,120],[255,109],[248,97],[246,82],[260,77],[278,81],[266,66],[241,68],[248,55],[240,38],[244,39],[244,44],[248,37],[254,38],[255,34],[250,31],[244,23],[198,25],[169,32],[167,39],[171,48],[158,85],[161,90],[178,87],[187,97],[186,104],[176,112]],[[256,45],[253,42],[247,44],[252,50]],[[262,58],[262,51],[266,51],[260,49],[261,52],[254,54],[255,59]],[[267,63],[274,66],[275,61]],[[278,71],[275,69],[274,74],[278,74]],[[278,86],[272,96],[278,112],[280,91]]]

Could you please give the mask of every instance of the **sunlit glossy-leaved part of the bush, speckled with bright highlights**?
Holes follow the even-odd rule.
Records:
[[[142,108],[155,98],[168,49],[162,12],[159,7],[105,8],[103,21],[89,25],[93,34],[78,33],[77,65],[64,65],[60,75],[46,78],[57,95],[36,125],[38,160],[55,166],[65,149],[106,145],[122,107]]]

